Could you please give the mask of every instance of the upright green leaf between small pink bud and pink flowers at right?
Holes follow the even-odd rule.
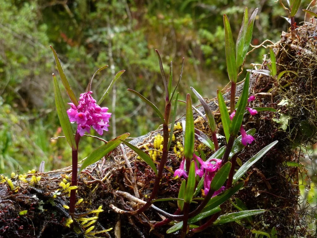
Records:
[[[230,136],[236,136],[240,130],[243,116],[244,116],[244,110],[248,103],[248,97],[249,97],[249,81],[250,81],[250,73],[247,72],[247,75],[245,76],[245,81],[243,85],[243,90],[241,94],[240,103],[238,105],[238,108],[236,109],[236,114],[232,118],[229,132]],[[220,106],[220,105],[219,105]],[[220,111],[221,113],[221,111]]]

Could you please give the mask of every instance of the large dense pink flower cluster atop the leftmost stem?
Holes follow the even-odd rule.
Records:
[[[68,103],[71,108],[67,110],[70,122],[78,124],[77,133],[83,136],[85,132],[90,133],[92,126],[101,136],[103,131],[108,131],[109,118],[111,113],[107,112],[107,107],[100,107],[91,96],[93,92],[82,93],[79,97],[79,105]]]

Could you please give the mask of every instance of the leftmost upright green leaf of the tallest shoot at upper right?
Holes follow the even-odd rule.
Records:
[[[226,14],[223,14],[226,62],[230,82],[237,83],[236,50],[233,43],[231,27]]]

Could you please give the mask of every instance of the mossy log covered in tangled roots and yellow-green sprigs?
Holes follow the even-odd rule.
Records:
[[[256,96],[254,107],[272,107],[276,112],[259,112],[245,116],[246,129],[255,128],[255,142],[238,154],[243,163],[269,143],[279,143],[257,162],[245,177],[245,186],[236,196],[249,209],[267,209],[264,215],[253,218],[252,223],[229,223],[212,227],[194,237],[251,237],[252,230],[269,232],[273,227],[277,237],[310,237],[307,232],[308,217],[298,209],[299,167],[287,166],[285,162],[298,162],[295,146],[316,142],[317,98],[317,26],[311,20],[296,29],[296,38],[283,32],[281,40],[272,45],[277,74],[285,73],[279,80],[252,74],[250,94]],[[268,69],[264,60],[260,69]],[[238,84],[237,96],[243,82]],[[225,93],[230,99],[230,93]],[[223,134],[217,113],[217,101],[209,102],[218,118],[218,133]],[[200,110],[203,111],[201,108]],[[177,122],[180,122],[180,118]],[[176,124],[177,124],[176,122]],[[195,114],[195,127],[210,135],[209,128]],[[147,151],[157,152],[154,146],[161,130],[152,131],[134,139],[131,143]],[[169,159],[161,181],[159,198],[177,197],[180,180],[173,177],[172,170],[179,166],[182,156],[182,129],[174,129]],[[224,140],[219,141],[224,145]],[[211,151],[198,141],[196,148]],[[152,155],[153,156],[153,155]],[[239,165],[237,165],[238,167]],[[68,215],[71,168],[25,175],[12,174],[0,182],[0,237],[175,237],[166,234],[168,225],[152,229],[152,225],[164,219],[149,208],[144,214],[128,216],[141,206],[138,198],[146,201],[151,194],[154,172],[137,158],[127,147],[119,146],[110,155],[89,166],[78,176],[76,215],[72,222]],[[119,191],[119,192],[118,192]],[[156,202],[166,212],[176,210],[175,202]],[[223,212],[236,211],[226,203]],[[245,224],[242,226],[241,224]],[[74,227],[71,230],[70,227]],[[112,228],[112,229],[111,229]],[[111,230],[109,230],[111,229]]]

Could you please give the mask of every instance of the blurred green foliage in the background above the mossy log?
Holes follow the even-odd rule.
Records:
[[[302,1],[305,6],[309,1]],[[130,132],[140,136],[159,125],[159,118],[131,88],[164,108],[163,84],[158,49],[166,74],[173,60],[178,78],[185,57],[180,99],[192,86],[202,96],[216,96],[217,88],[228,82],[225,69],[223,13],[230,17],[236,39],[244,7],[259,7],[251,44],[265,39],[277,41],[287,30],[285,10],[274,1],[154,0],[154,1],[56,1],[3,0],[0,4],[0,173],[70,165],[71,151],[62,136],[55,110],[51,73],[58,75],[53,45],[76,96],[82,93],[94,72],[108,64],[94,80],[94,97],[107,89],[114,74],[126,72],[103,102],[115,121],[105,139]],[[298,14],[297,22],[303,18]],[[247,57],[248,63],[262,62],[260,49]],[[63,91],[63,90],[62,90]],[[66,93],[65,101],[68,98]],[[196,98],[196,97],[192,97]],[[195,102],[194,102],[195,104]],[[179,114],[184,107],[179,107]],[[74,127],[75,130],[75,127]],[[83,138],[79,158],[100,145]]]

